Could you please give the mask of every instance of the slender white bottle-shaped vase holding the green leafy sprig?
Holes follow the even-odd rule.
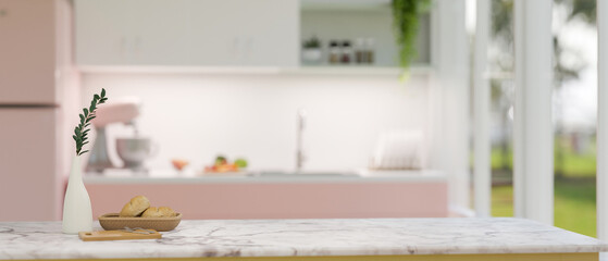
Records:
[[[85,184],[80,157],[72,159],[72,170],[63,200],[63,233],[78,234],[92,231],[92,210]]]

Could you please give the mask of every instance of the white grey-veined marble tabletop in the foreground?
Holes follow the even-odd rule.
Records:
[[[99,227],[98,223],[97,226]],[[537,222],[494,219],[183,221],[162,239],[82,241],[60,222],[0,222],[0,259],[291,257],[607,251]]]

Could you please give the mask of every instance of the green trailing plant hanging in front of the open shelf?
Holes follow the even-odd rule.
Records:
[[[430,3],[430,0],[393,0],[393,26],[399,48],[399,65],[404,69],[408,69],[415,58],[418,16],[429,10]]]

